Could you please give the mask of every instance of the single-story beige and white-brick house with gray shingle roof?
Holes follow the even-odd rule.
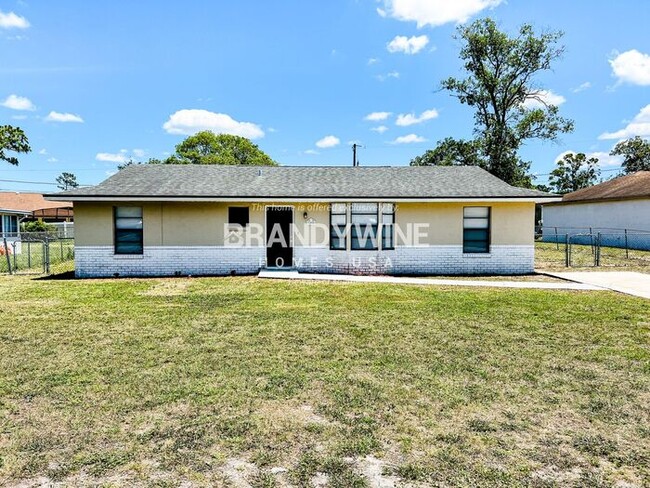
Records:
[[[478,167],[133,165],[74,202],[79,277],[523,274],[535,203]]]

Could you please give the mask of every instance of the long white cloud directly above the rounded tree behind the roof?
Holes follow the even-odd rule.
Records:
[[[231,134],[248,139],[264,137],[264,131],[257,124],[238,122],[227,114],[197,109],[174,112],[163,124],[163,129],[169,134],[181,135],[192,135],[202,130],[209,130],[215,134]]]

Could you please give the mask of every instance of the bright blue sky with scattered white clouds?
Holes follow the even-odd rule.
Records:
[[[481,16],[565,32],[538,82],[576,130],[524,148],[535,172],[565,151],[613,169],[618,140],[650,137],[650,2],[0,0],[0,124],[33,149],[0,180],[69,171],[95,184],[202,128],[251,137],[285,165],[351,164],[353,141],[362,165],[406,165],[471,136],[472,112],[438,87],[461,74],[456,27]]]

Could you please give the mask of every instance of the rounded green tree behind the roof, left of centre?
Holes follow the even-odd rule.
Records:
[[[257,145],[245,137],[230,134],[197,132],[176,146],[176,154],[167,164],[226,164],[248,166],[277,166]]]

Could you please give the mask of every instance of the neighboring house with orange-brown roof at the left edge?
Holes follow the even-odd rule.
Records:
[[[11,232],[15,237],[21,222],[33,220],[52,224],[61,234],[72,233],[72,202],[48,201],[41,193],[0,192],[0,214],[3,212],[7,218],[2,217],[4,222],[0,232],[7,235]],[[10,215],[14,217],[10,218]]]

